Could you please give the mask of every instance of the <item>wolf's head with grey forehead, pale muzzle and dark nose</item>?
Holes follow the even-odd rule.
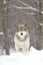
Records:
[[[17,27],[16,36],[18,37],[18,39],[25,40],[25,38],[28,36],[28,30],[26,26],[27,24],[26,25],[20,24],[16,26]]]

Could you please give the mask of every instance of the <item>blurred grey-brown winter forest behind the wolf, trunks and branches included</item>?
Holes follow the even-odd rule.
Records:
[[[43,49],[43,0],[0,0],[0,54],[14,48],[15,25],[26,23],[30,46]]]

